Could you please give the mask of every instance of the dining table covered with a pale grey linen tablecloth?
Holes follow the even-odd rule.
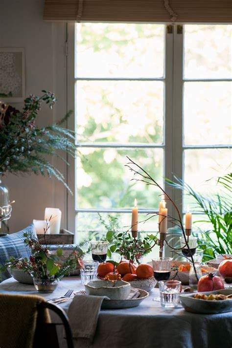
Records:
[[[53,293],[39,295],[49,300],[69,289],[84,289],[80,277],[63,278]],[[34,285],[13,278],[0,283],[0,292],[38,294]],[[93,342],[85,340],[78,348],[232,348],[232,312],[195,314],[181,304],[164,308],[153,301],[157,296],[159,289],[154,288],[137,307],[101,309]],[[59,305],[68,312],[71,301]]]

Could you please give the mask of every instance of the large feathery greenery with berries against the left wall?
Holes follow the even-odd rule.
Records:
[[[61,127],[71,111],[59,123],[38,128],[36,117],[41,104],[44,102],[52,109],[56,101],[53,93],[42,92],[41,97],[31,94],[26,98],[23,111],[0,102],[0,172],[47,174],[70,190],[64,175],[47,160],[46,155],[57,156],[65,163],[66,158],[57,150],[75,156],[74,131]]]

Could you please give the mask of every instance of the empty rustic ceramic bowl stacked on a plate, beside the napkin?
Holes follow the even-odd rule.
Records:
[[[124,281],[92,281],[85,285],[87,295],[107,296],[111,300],[125,300],[131,291],[130,283]]]

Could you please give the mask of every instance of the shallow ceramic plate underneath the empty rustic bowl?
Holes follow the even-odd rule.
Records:
[[[137,307],[146,297],[149,296],[145,290],[138,289],[140,296],[137,299],[130,300],[103,300],[102,309],[120,309],[120,308],[132,308]]]

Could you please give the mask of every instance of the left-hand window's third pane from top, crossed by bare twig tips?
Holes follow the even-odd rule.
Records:
[[[128,155],[162,184],[162,149],[79,148],[79,152],[78,208],[128,208],[135,198],[140,208],[158,207],[160,192],[154,186],[131,181],[135,176],[125,165]]]

